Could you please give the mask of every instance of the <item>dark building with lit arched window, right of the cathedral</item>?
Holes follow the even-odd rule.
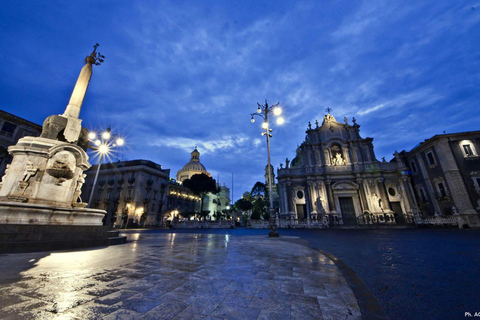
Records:
[[[440,134],[402,151],[423,218],[457,215],[480,226],[480,131]]]

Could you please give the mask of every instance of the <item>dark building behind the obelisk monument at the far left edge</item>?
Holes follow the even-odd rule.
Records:
[[[20,138],[38,137],[41,133],[41,125],[0,110],[0,177],[3,177],[7,165],[12,161],[8,147],[15,145]]]

